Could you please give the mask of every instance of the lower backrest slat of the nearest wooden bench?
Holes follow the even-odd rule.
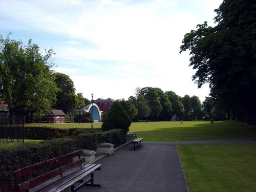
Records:
[[[33,188],[41,183],[44,183],[60,174],[62,174],[63,172],[66,172],[67,170],[77,166],[77,165],[81,165],[83,162],[85,162],[86,159],[82,158],[79,159],[75,162],[69,163],[67,165],[64,165],[62,167],[59,167],[57,169],[52,170],[51,172],[48,172],[46,174],[40,175],[38,177],[35,177],[29,181],[20,183],[19,185],[15,186],[15,191],[25,191],[27,189]]]

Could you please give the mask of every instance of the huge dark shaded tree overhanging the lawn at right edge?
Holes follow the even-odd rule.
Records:
[[[256,124],[256,4],[225,0],[215,10],[215,27],[205,22],[185,34],[180,52],[190,50],[190,66],[201,87],[208,82],[211,95],[226,109]]]

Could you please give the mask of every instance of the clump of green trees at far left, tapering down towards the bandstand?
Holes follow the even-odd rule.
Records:
[[[75,94],[68,75],[55,73],[53,49],[41,53],[36,44],[0,35],[0,99],[8,104],[11,115],[46,114],[50,109],[82,108],[90,101]]]

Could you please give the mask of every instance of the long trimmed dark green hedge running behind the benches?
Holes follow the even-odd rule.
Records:
[[[39,127],[34,127],[34,129],[40,130]],[[34,131],[34,136],[40,135],[38,133],[42,130],[38,130]],[[120,129],[107,132],[101,132],[97,129],[62,129],[62,134],[60,134],[59,130],[47,129],[47,132],[49,131],[51,134],[57,132],[61,136],[69,133],[70,136],[45,140],[39,144],[22,143],[16,148],[0,150],[0,191],[12,191],[15,184],[13,171],[18,168],[65,155],[76,150],[87,149],[96,151],[96,145],[101,142],[113,143],[116,147],[125,143],[127,136],[127,133]],[[46,130],[45,134],[47,135],[46,137],[51,135],[46,133]]]

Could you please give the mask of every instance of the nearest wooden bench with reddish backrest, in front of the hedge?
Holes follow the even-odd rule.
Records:
[[[33,191],[63,191],[68,188],[71,191],[76,191],[84,185],[99,187],[100,184],[94,184],[93,173],[95,170],[100,170],[101,165],[83,165],[82,163],[86,159],[84,157],[80,158],[82,154],[82,150],[79,150],[15,170],[13,172],[14,178],[22,179],[22,183],[14,186],[14,191],[28,192],[29,189]],[[49,167],[52,166],[55,169],[49,170]],[[33,177],[32,175],[38,171],[40,172],[39,176]],[[27,177],[30,177],[30,179],[26,181]],[[75,186],[78,182],[79,184]]]

